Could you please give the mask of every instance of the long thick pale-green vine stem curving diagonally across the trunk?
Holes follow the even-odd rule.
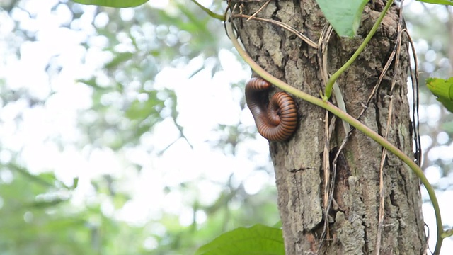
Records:
[[[443,236],[443,227],[442,227],[442,218],[440,216],[439,203],[437,201],[437,197],[435,195],[434,188],[432,188],[428,179],[426,179],[426,176],[423,174],[422,169],[420,169],[420,167],[417,164],[415,164],[415,162],[411,158],[409,158],[406,154],[404,154],[404,152],[401,152],[400,149],[398,149],[397,147],[392,145],[389,141],[385,140],[384,137],[377,134],[377,132],[374,132],[373,130],[368,128],[366,125],[361,123],[359,120],[356,120],[355,118],[353,118],[348,113],[341,111],[340,108],[334,106],[331,102],[323,101],[323,99],[321,99],[321,98],[316,98],[314,96],[306,94],[304,91],[296,89],[293,86],[290,86],[289,84],[285,83],[284,81],[281,81],[277,77],[274,77],[272,74],[269,74],[268,72],[266,72],[265,69],[261,68],[255,61],[252,60],[252,58],[247,54],[247,52],[245,50],[243,50],[243,48],[239,44],[238,39],[236,38],[236,34],[234,33],[233,24],[232,24],[232,21],[229,21],[229,17],[226,18],[225,22],[226,22],[226,24],[225,24],[226,33],[228,34],[229,38],[231,39],[231,42],[233,43],[236,50],[239,52],[239,55],[241,55],[243,60],[261,78],[265,79],[266,81],[269,81],[271,84],[274,84],[278,88],[280,88],[284,91],[287,91],[290,94],[293,94],[294,96],[302,98],[303,100],[308,101],[309,103],[313,103],[316,106],[320,106],[321,108],[324,108],[327,111],[333,113],[338,118],[345,120],[347,123],[349,123],[353,127],[357,128],[357,130],[364,132],[365,135],[372,138],[372,140],[378,142],[379,145],[382,145],[382,147],[388,149],[389,152],[392,152],[393,154],[395,154],[396,157],[403,160],[403,162],[405,162],[412,169],[412,171],[415,173],[416,176],[418,176],[418,178],[420,179],[420,181],[423,183],[426,190],[428,191],[428,195],[430,196],[432,207],[434,208],[435,217],[436,217],[436,225],[437,225],[437,240],[436,240],[434,254],[435,255],[440,254],[440,246],[442,246],[442,241],[443,241],[443,237],[442,237]]]

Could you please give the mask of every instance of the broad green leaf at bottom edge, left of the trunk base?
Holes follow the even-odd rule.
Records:
[[[201,246],[195,255],[268,254],[284,255],[282,229],[254,225],[239,227],[221,234],[212,242]]]

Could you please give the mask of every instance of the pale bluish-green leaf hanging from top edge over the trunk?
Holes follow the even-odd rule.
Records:
[[[316,0],[328,23],[340,36],[352,37],[360,26],[367,0]]]

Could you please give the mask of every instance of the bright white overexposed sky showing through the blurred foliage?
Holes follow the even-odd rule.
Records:
[[[272,167],[268,156],[268,142],[265,139],[260,137],[258,140],[244,143],[235,156],[212,149],[207,142],[215,140],[217,134],[212,130],[217,124],[235,125],[241,120],[250,128],[254,126],[250,112],[241,111],[239,108],[238,101],[243,91],[231,89],[230,86],[231,83],[248,79],[251,73],[236,61],[236,57],[229,50],[220,52],[223,70],[217,72],[212,79],[209,68],[188,79],[193,70],[203,64],[201,58],[195,58],[184,68],[166,67],[156,76],[156,88],[166,87],[176,91],[180,111],[178,122],[185,127],[185,135],[193,149],[190,149],[185,140],[180,139],[162,155],[149,154],[149,148],[159,152],[177,139],[178,130],[169,119],[159,123],[152,135],[144,137],[141,147],[125,149],[120,154],[110,149],[92,151],[93,148],[86,147],[79,150],[71,146],[71,142],[76,142],[81,135],[76,128],[77,111],[91,107],[92,93],[90,88],[76,83],[75,80],[91,77],[93,70],[101,67],[111,56],[101,52],[105,43],[105,39],[101,37],[91,40],[91,48],[88,51],[80,45],[88,35],[96,32],[91,26],[95,8],[83,6],[85,14],[80,21],[71,24],[72,29],[62,28],[60,24],[69,24],[71,21],[71,12],[62,4],[57,10],[50,11],[57,2],[58,0],[21,1],[23,10],[16,8],[13,11],[13,17],[21,20],[22,29],[38,33],[38,40],[35,42],[12,42],[14,23],[5,13],[0,14],[0,56],[3,60],[0,62],[0,78],[6,79],[8,88],[26,89],[35,98],[47,98],[51,91],[55,92],[44,106],[30,107],[27,101],[18,99],[2,108],[0,113],[3,148],[11,151],[22,149],[21,162],[32,173],[55,169],[57,177],[68,185],[71,185],[74,177],[79,176],[79,188],[73,198],[76,205],[85,204],[93,195],[91,179],[105,173],[113,174],[122,180],[120,187],[134,196],[120,212],[115,212],[110,200],[103,200],[103,212],[121,220],[132,221],[132,224],[140,224],[150,219],[158,220],[163,210],[180,215],[180,222],[190,225],[192,211],[190,204],[184,202],[191,201],[196,196],[201,199],[201,203],[212,203],[221,191],[222,183],[231,174],[234,174],[238,185],[243,182],[248,193],[258,192],[268,183],[274,185],[274,179],[269,178],[265,171],[256,170],[269,170]],[[168,1],[151,2],[165,8]],[[210,2],[204,1],[202,4],[208,6]],[[30,18],[26,11],[36,18]],[[121,14],[123,18],[127,18],[133,15],[133,11],[125,9]],[[105,14],[96,17],[97,24],[106,22],[108,17]],[[222,29],[220,25],[219,29]],[[20,59],[8,51],[8,45],[11,43],[22,43]],[[85,62],[82,63],[84,55]],[[62,72],[52,79],[45,72],[50,61],[57,61],[63,67]],[[193,91],[197,93],[194,94]],[[1,100],[0,102],[4,103]],[[420,116],[436,118],[433,114],[435,112],[437,110],[433,108],[423,109]],[[16,126],[13,120],[20,113],[23,113],[23,124]],[[61,151],[49,137],[59,137],[67,146]],[[432,138],[423,137],[424,147],[428,146],[430,139]],[[435,139],[445,140],[445,135]],[[452,151],[453,145],[445,145],[439,153]],[[253,156],[251,152],[255,152]],[[6,163],[10,160],[11,154],[3,150],[0,153],[0,161]],[[131,169],[128,162],[142,165],[140,174]],[[427,169],[426,174],[430,181],[440,180],[439,169]],[[7,175],[2,174],[0,178],[5,180],[5,176]],[[193,193],[183,194],[178,192],[178,189],[164,193],[164,185],[177,187],[180,183],[198,179],[203,180],[197,183]],[[424,198],[428,198],[424,188],[422,193]],[[453,191],[437,194],[444,224],[452,226],[453,217],[450,215],[453,208],[450,201]],[[430,246],[433,248],[435,217],[430,204],[423,205],[423,214],[425,222],[430,226]],[[197,215],[197,221],[202,222],[205,217],[206,215]],[[452,238],[444,242],[442,251],[443,254],[453,251]]]

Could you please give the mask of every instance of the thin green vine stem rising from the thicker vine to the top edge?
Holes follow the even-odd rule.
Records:
[[[343,72],[345,72],[345,70],[348,69],[348,67],[350,67],[350,65],[357,59],[357,57],[360,55],[360,53],[362,53],[362,51],[365,50],[365,46],[367,46],[369,40],[371,40],[374,33],[376,33],[377,28],[379,28],[379,25],[381,24],[382,19],[384,18],[387,11],[389,11],[389,8],[390,8],[391,4],[393,4],[393,2],[394,2],[393,0],[387,1],[386,5],[384,7],[384,10],[382,10],[381,15],[379,15],[379,18],[377,18],[377,21],[374,23],[371,30],[369,30],[369,33],[368,33],[367,37],[365,38],[365,40],[363,40],[362,44],[357,48],[357,50],[350,57],[350,59],[347,62],[345,62],[345,64],[343,64],[343,67],[340,67],[340,69],[338,69],[337,72],[332,74],[331,78],[328,79],[327,84],[326,84],[326,89],[324,89],[324,96],[323,96],[324,101],[328,101],[328,98],[331,98],[332,87],[333,87],[333,84],[335,84],[335,81],[338,79],[338,77],[340,77],[340,75],[343,74]]]

